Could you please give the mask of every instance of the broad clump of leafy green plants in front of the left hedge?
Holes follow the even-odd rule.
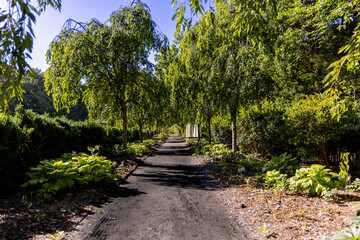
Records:
[[[70,189],[74,184],[88,184],[99,182],[104,178],[117,180],[118,175],[112,170],[116,163],[105,157],[86,153],[64,154],[61,158],[40,161],[36,167],[30,168],[27,175],[30,180],[21,187],[37,186],[36,197],[38,200],[51,200],[54,195],[65,189]]]

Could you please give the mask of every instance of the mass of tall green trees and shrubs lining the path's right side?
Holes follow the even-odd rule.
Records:
[[[193,25],[179,8],[184,28],[159,61],[179,120],[204,126],[209,142],[225,124],[233,151],[326,165],[350,151],[359,167],[357,3],[256,3],[215,1]]]

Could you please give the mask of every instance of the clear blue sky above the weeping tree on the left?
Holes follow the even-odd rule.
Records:
[[[3,1],[3,0],[0,0]],[[88,22],[92,18],[96,18],[104,22],[109,18],[113,11],[121,6],[127,6],[131,0],[63,0],[61,12],[52,8],[47,8],[38,18],[34,26],[33,52],[32,60],[28,63],[33,68],[45,71],[48,68],[46,63],[46,51],[50,42],[60,33],[65,21],[72,18],[80,22]],[[159,26],[160,30],[173,40],[176,22],[172,21],[175,13],[170,0],[143,0],[151,10],[153,21]]]

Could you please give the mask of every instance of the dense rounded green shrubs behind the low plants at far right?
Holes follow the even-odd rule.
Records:
[[[349,102],[337,119],[332,113],[334,105],[322,95],[312,95],[244,107],[239,113],[238,143],[266,157],[288,152],[303,161],[317,158],[324,164],[336,164],[338,152],[360,150],[360,112]]]

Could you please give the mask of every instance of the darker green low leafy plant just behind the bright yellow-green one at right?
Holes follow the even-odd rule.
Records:
[[[277,170],[289,175],[299,168],[299,161],[296,157],[293,158],[291,154],[283,153],[279,157],[273,157],[269,163],[265,164],[263,172]]]

